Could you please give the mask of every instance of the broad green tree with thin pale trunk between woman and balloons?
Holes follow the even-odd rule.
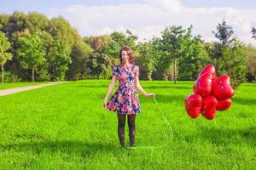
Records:
[[[154,39],[154,48],[160,51],[156,70],[166,74],[167,79],[193,80],[204,64],[209,62],[200,36],[193,37],[192,26],[169,26]]]

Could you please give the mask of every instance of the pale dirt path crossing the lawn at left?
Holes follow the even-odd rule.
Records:
[[[55,84],[62,84],[67,82],[48,82],[47,84],[38,84],[33,86],[26,86],[26,87],[20,87],[20,88],[10,88],[5,90],[0,90],[0,96],[8,95],[8,94],[15,94],[26,90],[32,90],[35,88],[43,88],[45,86],[52,86]]]

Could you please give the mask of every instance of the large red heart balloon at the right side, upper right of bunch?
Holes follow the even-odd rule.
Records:
[[[212,94],[218,99],[232,98],[234,90],[230,85],[230,77],[223,75],[218,77],[212,85]]]

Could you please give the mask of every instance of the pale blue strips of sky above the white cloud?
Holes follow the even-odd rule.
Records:
[[[107,5],[117,3],[141,3],[143,1],[138,0],[0,0],[1,13],[11,14],[15,9],[29,12],[32,10],[47,13],[49,8],[63,8],[73,4],[84,4],[84,5]],[[232,7],[242,9],[256,9],[255,0],[182,0],[181,1],[186,7]]]

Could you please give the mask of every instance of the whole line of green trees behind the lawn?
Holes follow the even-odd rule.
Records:
[[[129,46],[143,80],[195,80],[207,64],[228,74],[236,88],[256,80],[256,48],[234,37],[225,20],[213,28],[216,41],[192,34],[193,26],[166,26],[160,37],[137,42],[132,31],[81,37],[63,17],[36,12],[0,14],[2,82],[108,79]],[[249,32],[248,32],[249,33]],[[256,39],[256,29],[252,28]]]

